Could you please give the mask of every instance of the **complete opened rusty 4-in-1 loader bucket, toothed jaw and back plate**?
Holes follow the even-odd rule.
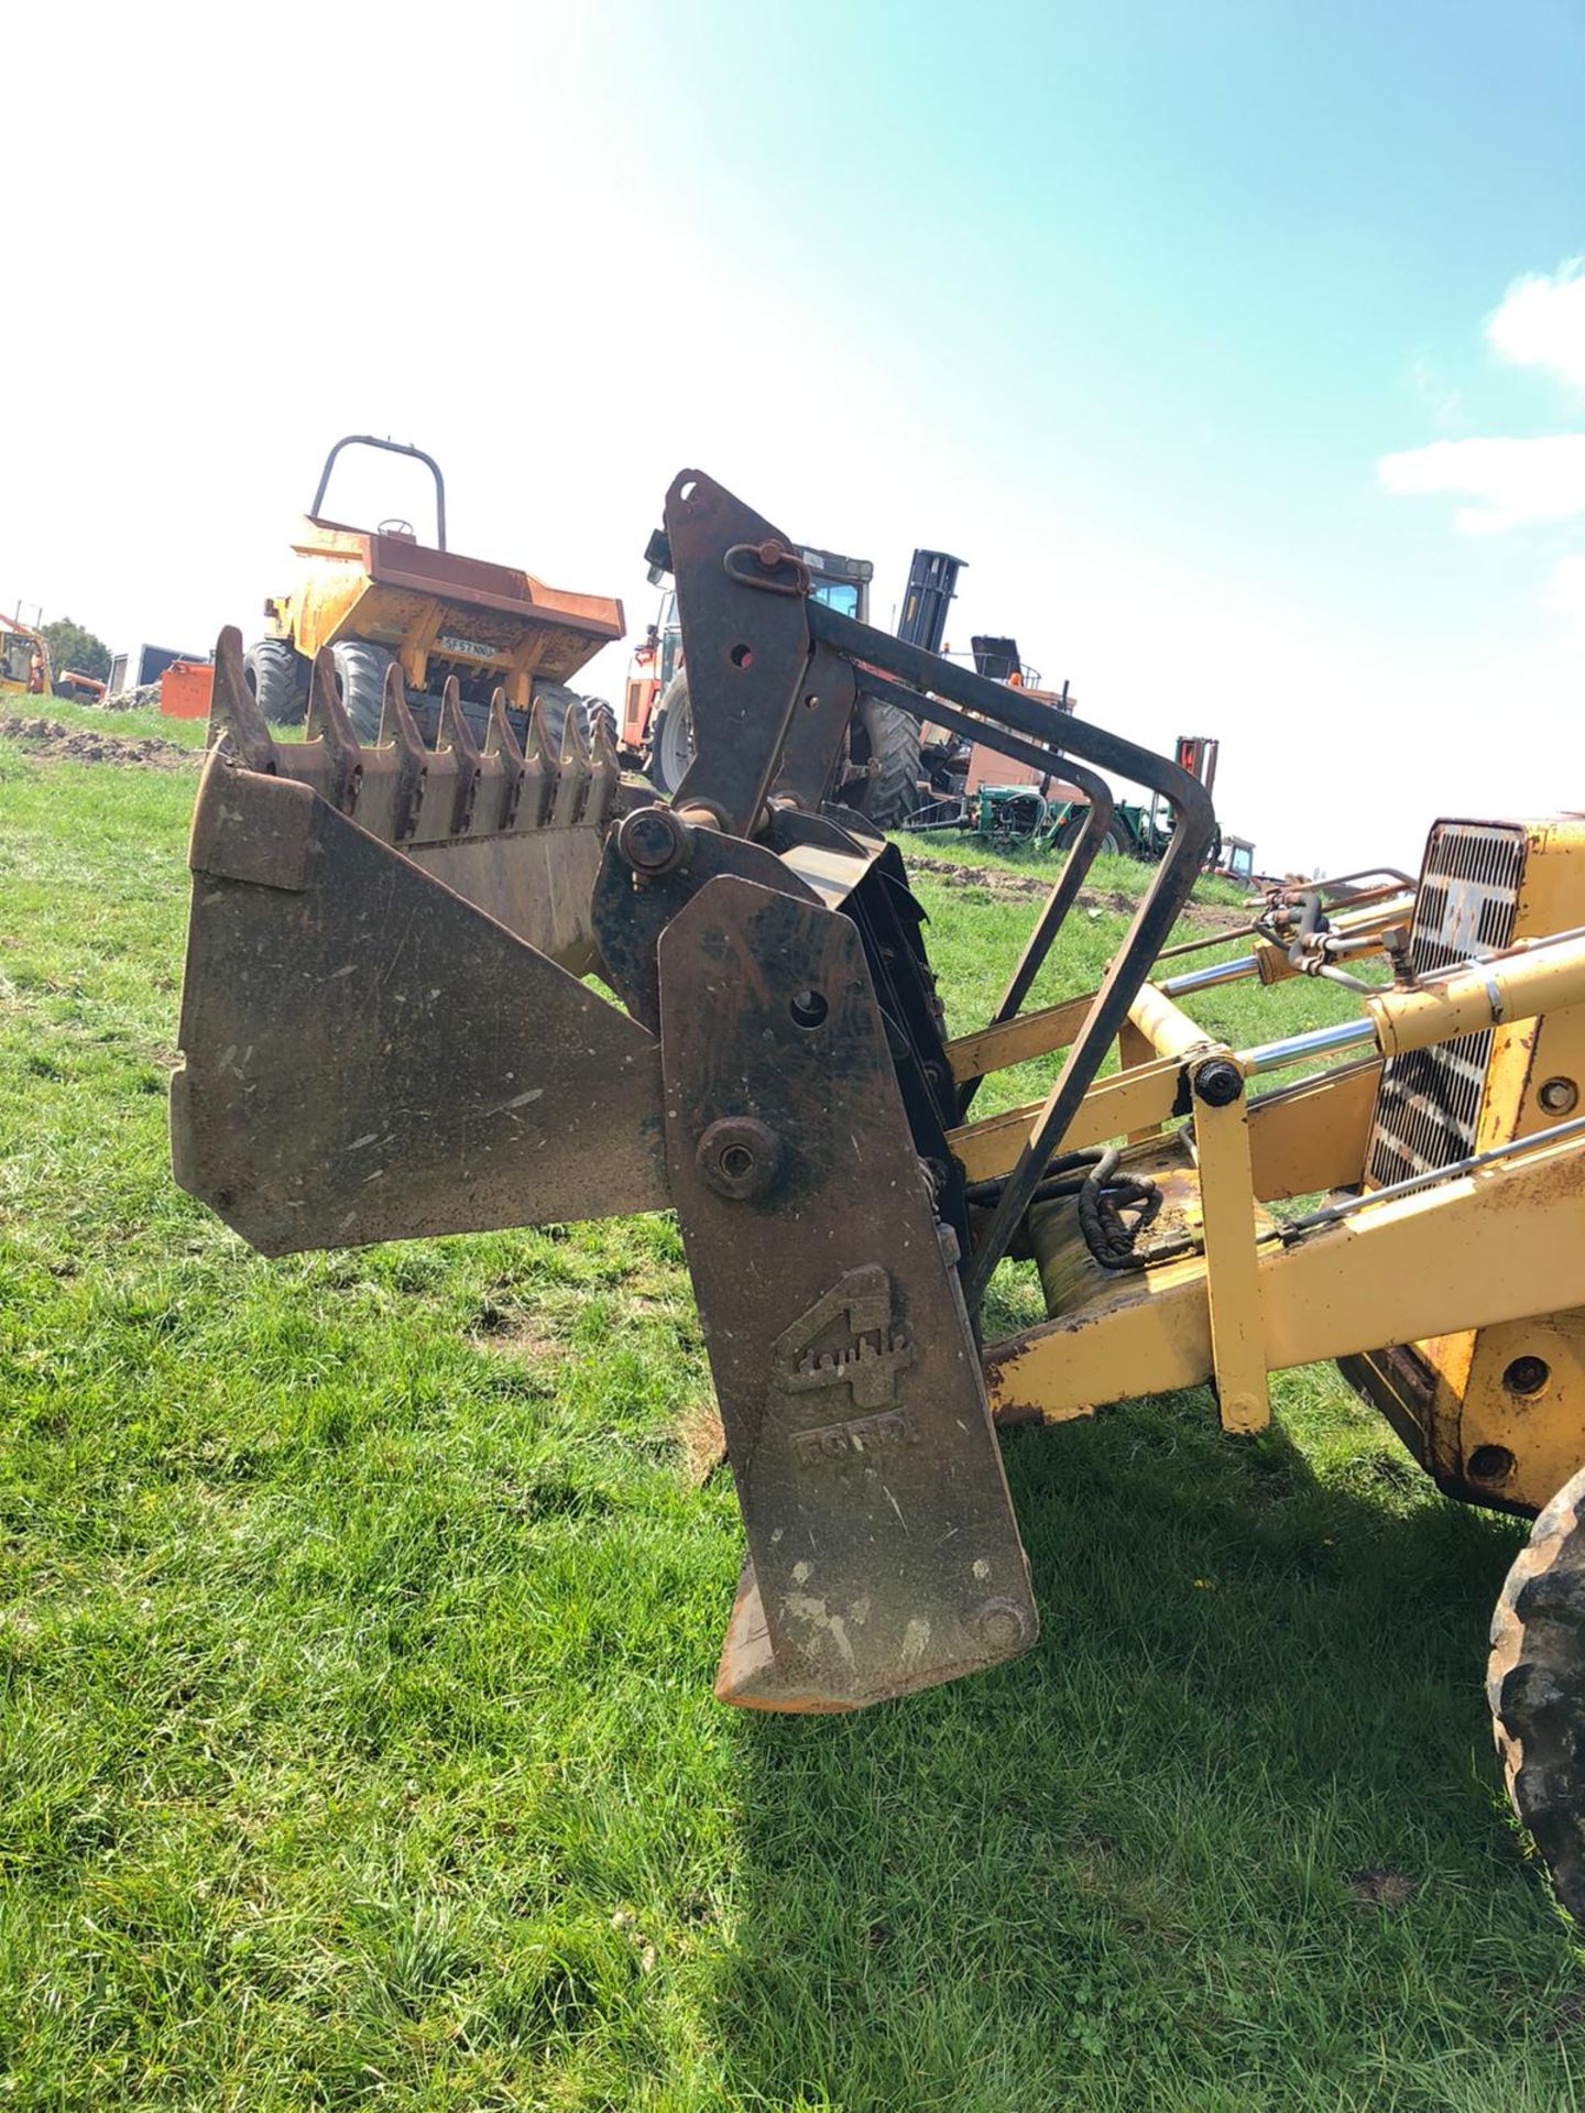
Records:
[[[674,1209],[748,1542],[716,1693],[856,1709],[1038,1635],[957,1086],[902,860],[828,803],[856,674],[801,560],[693,471],[659,551],[674,803],[604,735],[549,754],[535,716],[518,750],[501,697],[476,748],[454,687],[427,750],[395,676],[361,748],[328,655],[277,746],[222,638],[175,1173],[266,1253]]]

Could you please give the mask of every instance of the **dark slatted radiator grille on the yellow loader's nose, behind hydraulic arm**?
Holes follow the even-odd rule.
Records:
[[[1418,974],[1513,938],[1524,873],[1524,830],[1490,822],[1439,822],[1431,833],[1414,911]],[[1452,1166],[1475,1149],[1492,1031],[1393,1056],[1376,1101],[1369,1183]]]

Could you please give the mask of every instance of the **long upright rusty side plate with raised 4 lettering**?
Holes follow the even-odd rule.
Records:
[[[752,1557],[716,1693],[843,1709],[1014,1657],[1027,1564],[858,930],[721,877],[661,934],[659,993]]]

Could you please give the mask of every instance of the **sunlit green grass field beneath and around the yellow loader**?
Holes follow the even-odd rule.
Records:
[[[1036,1652],[719,1709],[668,1219],[262,1261],[173,1190],[192,788],[0,742],[0,2102],[1579,2102],[1481,1701],[1511,1521],[1323,1369],[1238,1447],[1198,1392],[1017,1431]],[[1031,904],[919,890],[972,1025]],[[1338,999],[1264,995],[1202,1016]]]

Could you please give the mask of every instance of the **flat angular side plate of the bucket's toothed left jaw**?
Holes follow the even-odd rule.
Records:
[[[211,754],[192,833],[184,1190],[266,1255],[668,1204],[659,1050],[336,814]]]

